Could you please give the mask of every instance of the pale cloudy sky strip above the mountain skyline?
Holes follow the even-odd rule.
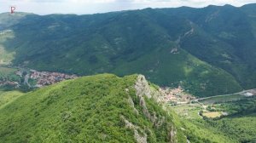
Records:
[[[247,3],[256,0],[0,0],[0,13],[10,12],[12,6],[15,11],[34,14],[96,14],[145,8],[202,8],[210,4],[240,7]]]

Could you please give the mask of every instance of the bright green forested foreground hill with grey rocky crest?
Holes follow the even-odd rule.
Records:
[[[58,83],[0,108],[0,142],[186,142],[159,97],[137,75]]]

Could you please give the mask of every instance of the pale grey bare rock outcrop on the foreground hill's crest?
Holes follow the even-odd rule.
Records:
[[[163,124],[167,125],[166,129],[168,129],[168,142],[177,142],[176,134],[177,130],[174,127],[173,123],[168,123],[166,121],[165,116],[161,116],[157,114],[157,111],[149,111],[147,100],[154,100],[159,106],[162,106],[165,109],[165,106],[162,104],[163,96],[160,93],[159,89],[154,89],[151,87],[143,75],[137,76],[137,81],[135,83],[134,88],[136,89],[137,99],[139,100],[139,106],[142,107],[142,112],[145,117],[153,124],[155,129],[159,129]],[[128,90],[126,90],[128,92]],[[134,112],[139,113],[136,107],[134,106],[134,100],[129,96],[128,99],[130,105],[134,108]],[[134,130],[134,137],[138,143],[146,143],[147,142],[147,134],[145,134],[145,129],[137,127],[130,123],[125,117],[122,117],[125,121],[126,128]],[[142,133],[138,134],[138,130]]]

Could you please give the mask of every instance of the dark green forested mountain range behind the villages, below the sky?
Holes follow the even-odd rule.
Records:
[[[256,4],[107,14],[0,14],[0,63],[143,73],[197,96],[256,87]]]

